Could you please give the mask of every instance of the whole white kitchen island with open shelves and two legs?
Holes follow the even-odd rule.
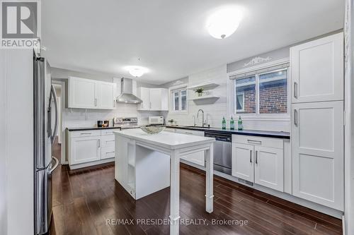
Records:
[[[170,234],[179,232],[180,157],[205,151],[206,203],[213,211],[214,138],[141,129],[115,131],[115,179],[136,200],[171,186]]]

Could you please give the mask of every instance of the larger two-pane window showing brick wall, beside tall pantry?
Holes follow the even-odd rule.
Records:
[[[235,114],[287,114],[287,68],[235,79]]]

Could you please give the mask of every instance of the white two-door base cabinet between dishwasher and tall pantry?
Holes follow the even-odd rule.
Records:
[[[282,140],[232,135],[232,141],[241,142],[232,143],[232,176],[284,191]]]

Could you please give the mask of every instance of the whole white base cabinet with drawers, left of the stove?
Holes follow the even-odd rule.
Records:
[[[112,130],[69,131],[69,167],[78,169],[113,162],[115,135]]]

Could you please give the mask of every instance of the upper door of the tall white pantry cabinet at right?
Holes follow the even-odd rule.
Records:
[[[292,103],[343,100],[343,32],[290,48]]]

